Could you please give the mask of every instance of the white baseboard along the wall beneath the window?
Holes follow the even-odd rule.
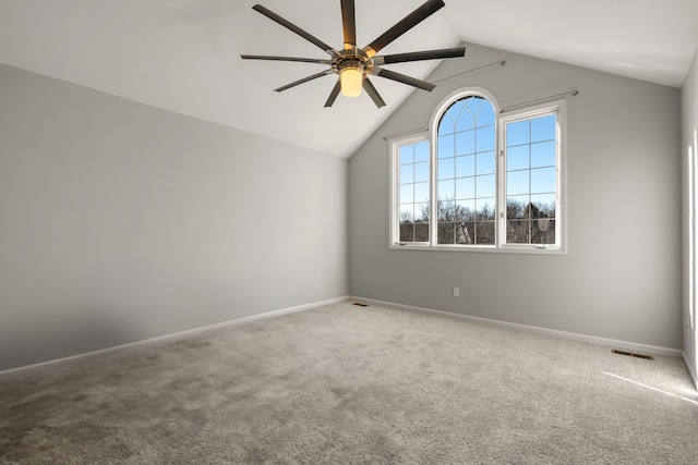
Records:
[[[554,329],[534,327],[529,325],[512,323],[512,322],[502,321],[502,320],[473,317],[470,315],[454,314],[450,311],[434,310],[432,308],[414,307],[411,305],[402,305],[402,304],[396,304],[393,302],[376,301],[373,298],[364,298],[359,296],[349,296],[349,299],[362,302],[362,303],[373,303],[375,305],[384,305],[388,307],[399,308],[402,310],[420,311],[420,313],[441,315],[441,316],[446,316],[452,318],[460,318],[460,319],[470,320],[470,321],[486,322],[486,323],[496,325],[496,326],[506,327],[506,328],[521,329],[525,331],[535,332],[539,334],[556,335],[559,338],[571,339],[575,341],[590,342],[593,344],[607,345],[616,348],[625,348],[633,352],[648,353],[653,355],[666,355],[670,357],[679,357],[679,358],[684,357],[684,351],[681,351],[677,348],[662,347],[659,345],[639,344],[635,342],[618,341],[614,339],[599,338],[599,336],[589,335],[589,334],[579,334],[575,332],[558,331]],[[695,380],[696,378],[694,377],[694,381]]]

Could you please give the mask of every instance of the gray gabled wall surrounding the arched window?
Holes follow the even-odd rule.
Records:
[[[679,89],[467,47],[430,76],[431,94],[416,91],[350,159],[350,294],[681,348]],[[506,64],[448,78],[498,60]],[[502,107],[579,90],[567,105],[567,255],[388,249],[384,137],[428,127],[466,86]]]

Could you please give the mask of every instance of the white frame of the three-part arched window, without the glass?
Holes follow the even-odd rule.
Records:
[[[437,209],[438,203],[438,125],[442,117],[456,101],[478,96],[486,99],[495,113],[495,159],[496,159],[496,240],[494,244],[488,245],[462,245],[462,244],[440,244],[436,236],[438,230],[438,218],[431,215],[430,218],[430,240],[429,242],[400,242],[399,232],[399,200],[398,200],[398,176],[399,167],[396,164],[398,149],[405,144],[420,140],[429,140],[430,144],[430,203],[431,211]],[[506,218],[506,125],[512,122],[533,120],[538,117],[555,114],[556,121],[556,188],[555,188],[555,243],[507,243],[507,218]],[[434,110],[430,125],[426,131],[411,133],[408,136],[396,136],[388,139],[390,144],[390,248],[399,249],[438,249],[458,252],[502,252],[502,253],[530,253],[564,255],[566,254],[566,100],[558,99],[546,101],[540,105],[517,109],[516,111],[504,111],[497,98],[488,89],[482,87],[461,88],[446,97]]]

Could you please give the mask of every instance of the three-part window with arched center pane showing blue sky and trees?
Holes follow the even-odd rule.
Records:
[[[440,106],[431,134],[390,140],[392,247],[563,250],[564,100],[497,109],[468,89]]]

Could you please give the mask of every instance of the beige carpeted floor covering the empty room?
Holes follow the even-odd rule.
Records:
[[[0,382],[3,464],[695,464],[683,362],[341,303]]]

